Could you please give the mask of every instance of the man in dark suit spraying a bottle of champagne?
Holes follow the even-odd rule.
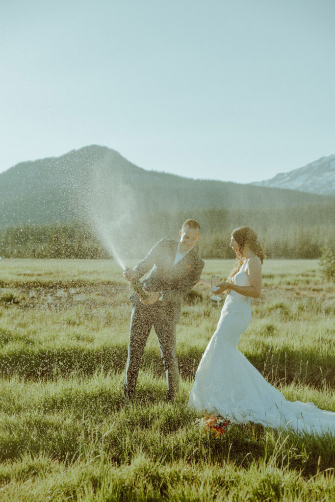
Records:
[[[183,295],[196,284],[204,266],[193,250],[200,236],[199,223],[194,219],[186,220],[179,235],[179,241],[161,239],[134,270],[124,271],[124,277],[129,281],[150,271],[145,280],[147,298],[141,300],[137,293],[130,297],[133,311],[123,390],[125,404],[133,400],[141,358],[152,326],[164,364],[168,399],[173,401],[178,391],[176,324],[180,320]]]

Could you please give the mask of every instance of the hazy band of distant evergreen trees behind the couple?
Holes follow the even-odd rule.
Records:
[[[156,211],[134,216],[114,235],[110,230],[110,237],[127,257],[139,258],[160,238],[177,239],[182,222],[192,217],[201,224],[198,251],[204,259],[234,258],[229,247],[231,232],[243,225],[255,229],[268,258],[315,259],[321,256],[325,245],[333,247],[333,209],[333,204],[328,203],[272,212],[227,208],[170,213]],[[0,234],[0,256],[105,259],[110,255],[94,226],[73,221],[7,227]]]

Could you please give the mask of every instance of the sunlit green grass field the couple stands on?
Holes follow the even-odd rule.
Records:
[[[231,267],[206,261],[203,277]],[[286,398],[335,411],[333,284],[313,260],[268,260],[263,278],[239,349]],[[0,500],[333,502],[334,436],[195,424],[188,394],[221,308],[202,286],[177,327],[175,403],[152,332],[121,407],[128,296],[113,261],[0,261]]]

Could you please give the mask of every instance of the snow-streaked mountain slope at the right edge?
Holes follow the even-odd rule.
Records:
[[[335,194],[335,155],[322,157],[294,169],[289,173],[279,173],[274,178],[258,181],[252,185],[262,187],[289,188],[321,195]]]

